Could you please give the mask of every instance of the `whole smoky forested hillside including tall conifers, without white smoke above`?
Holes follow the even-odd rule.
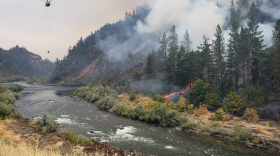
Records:
[[[214,38],[195,36],[203,38],[200,45],[195,45],[198,50],[191,48],[194,46],[188,30],[179,42],[182,34],[177,33],[176,25],[163,34],[138,33],[135,26],[139,21],[145,23],[151,10],[144,3],[132,13],[125,13],[124,20],[106,24],[81,38],[61,62],[57,61],[51,82],[101,83],[154,95],[179,91],[202,79],[212,87],[214,96],[225,97],[230,91],[249,86],[260,94],[276,93],[279,21],[276,23],[275,15],[262,9],[275,8],[275,2],[232,0],[226,22],[217,23]],[[223,6],[217,3],[216,7]],[[264,44],[267,36],[259,28],[266,23],[275,25],[272,46]]]

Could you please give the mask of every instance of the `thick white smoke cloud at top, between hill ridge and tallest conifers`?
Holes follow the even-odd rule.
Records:
[[[216,26],[224,24],[228,6],[229,3],[221,3],[218,7],[214,0],[155,0],[147,24],[138,22],[136,29],[139,33],[167,32],[176,25],[179,41],[188,30],[192,48],[197,49],[203,35],[211,38]]]

